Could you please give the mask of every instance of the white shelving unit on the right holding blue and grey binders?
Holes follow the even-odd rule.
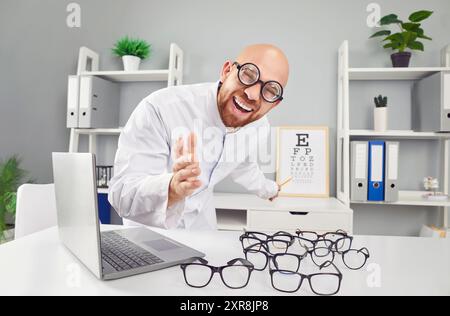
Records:
[[[443,54],[449,54],[449,51]],[[375,132],[371,130],[350,129],[350,81],[378,80],[419,80],[435,73],[450,71],[450,64],[434,68],[350,68],[349,44],[344,41],[339,48],[338,60],[338,121],[337,121],[337,197],[345,205],[408,205],[422,207],[439,207],[442,211],[443,226],[448,226],[450,201],[429,201],[422,196],[424,192],[400,191],[399,201],[389,202],[354,202],[350,200],[350,142],[353,139],[395,139],[395,140],[435,140],[441,148],[441,174],[443,191],[449,194],[450,133],[421,133],[412,130],[392,130]]]

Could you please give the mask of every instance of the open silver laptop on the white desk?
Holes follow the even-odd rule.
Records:
[[[93,154],[53,153],[60,239],[97,278],[113,280],[204,257],[144,227],[100,233],[95,170]]]

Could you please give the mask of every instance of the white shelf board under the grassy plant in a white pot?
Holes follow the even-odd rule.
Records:
[[[83,72],[82,76],[97,76],[114,82],[145,82],[167,81],[169,70],[140,70],[140,71],[92,71]]]

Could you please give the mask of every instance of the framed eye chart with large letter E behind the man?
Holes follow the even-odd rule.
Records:
[[[280,196],[329,197],[328,127],[279,127],[277,138],[277,183],[292,178]]]

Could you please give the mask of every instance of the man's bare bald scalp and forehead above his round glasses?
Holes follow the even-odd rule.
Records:
[[[236,58],[239,64],[253,63],[261,70],[261,80],[275,80],[283,88],[289,78],[289,62],[281,49],[271,44],[254,44],[244,48]]]

